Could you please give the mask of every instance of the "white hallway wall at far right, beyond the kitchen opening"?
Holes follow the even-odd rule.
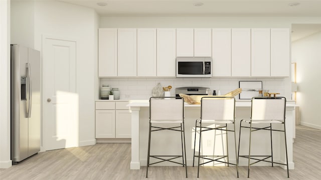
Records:
[[[296,103],[301,124],[321,129],[319,95],[321,80],[321,32],[292,42],[292,62],[296,62]]]

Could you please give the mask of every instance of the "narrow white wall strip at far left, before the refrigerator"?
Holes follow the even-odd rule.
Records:
[[[10,0],[0,0],[0,168],[10,160]]]

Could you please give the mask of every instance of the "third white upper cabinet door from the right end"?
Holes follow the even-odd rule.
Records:
[[[232,28],[232,76],[251,75],[251,31]]]

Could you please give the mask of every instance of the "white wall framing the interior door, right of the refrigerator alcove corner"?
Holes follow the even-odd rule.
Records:
[[[95,140],[94,77],[97,61],[97,14],[87,7],[58,1],[35,1],[35,48],[42,35],[76,40],[76,92],[79,95],[79,145]]]

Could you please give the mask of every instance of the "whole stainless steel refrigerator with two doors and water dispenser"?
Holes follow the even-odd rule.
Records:
[[[11,159],[13,164],[40,151],[40,51],[11,44]]]

